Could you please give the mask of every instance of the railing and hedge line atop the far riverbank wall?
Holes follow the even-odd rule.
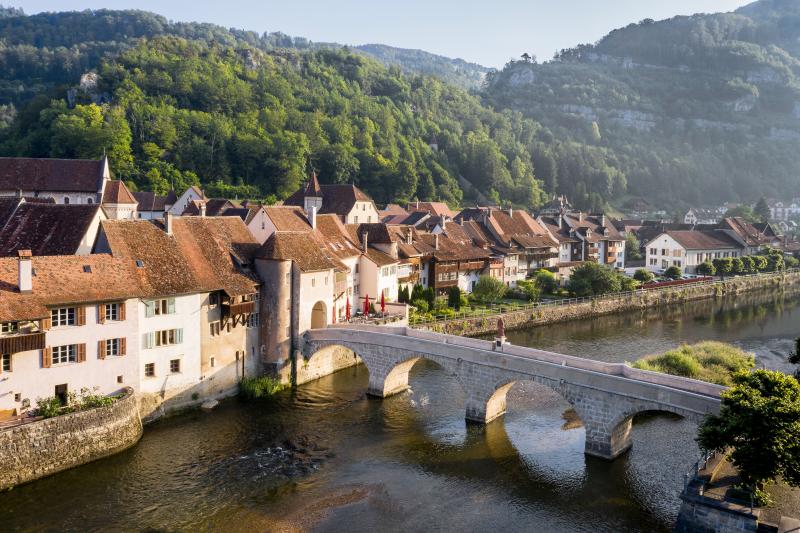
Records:
[[[769,278],[769,277],[776,277],[778,275],[784,274],[792,274],[800,272],[800,268],[794,269],[787,269],[782,270],[780,272],[759,272],[757,274],[744,274],[741,276],[730,276],[724,280],[709,280],[709,279],[700,279],[694,281],[692,283],[686,283],[684,285],[679,285],[679,288],[686,288],[686,287],[700,287],[706,285],[724,285],[731,279],[748,279],[748,278]],[[690,281],[690,280],[687,280]],[[409,317],[409,325],[410,326],[426,326],[426,325],[433,325],[433,324],[441,324],[444,322],[450,322],[451,320],[459,320],[465,318],[480,318],[480,317],[497,317],[499,318],[505,313],[511,313],[516,311],[533,311],[536,309],[548,309],[552,307],[559,307],[565,305],[576,305],[582,303],[591,303],[593,301],[598,300],[614,300],[620,298],[627,298],[631,296],[640,296],[642,294],[648,293],[658,293],[658,292],[666,292],[666,291],[674,291],[676,288],[675,286],[659,286],[659,287],[642,287],[635,291],[626,291],[626,292],[614,292],[609,294],[603,294],[600,296],[582,296],[577,298],[564,298],[560,300],[551,300],[547,302],[535,302],[535,303],[528,303],[528,304],[490,304],[488,308],[478,308],[472,309],[470,311],[463,311],[463,312],[456,312],[452,315],[437,315],[434,317],[423,317],[420,318],[418,316],[412,315]]]

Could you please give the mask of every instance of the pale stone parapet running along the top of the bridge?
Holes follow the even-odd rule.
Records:
[[[369,344],[380,344],[382,336],[385,335],[389,337],[410,337],[420,341],[460,346],[473,350],[488,352],[495,351],[495,344],[492,341],[460,337],[458,335],[448,335],[445,333],[435,333],[432,331],[419,330],[405,326],[352,326],[342,324],[329,326],[327,330],[312,330],[309,332],[309,338],[312,340],[314,340],[314,337],[321,337],[324,339],[326,337],[325,333],[331,330],[367,333],[369,336],[365,340],[368,341]],[[342,339],[344,340],[344,336]],[[419,351],[418,346],[414,348],[416,348],[416,350],[413,351]],[[681,376],[673,376],[670,374],[662,374],[660,372],[653,372],[650,370],[641,370],[638,368],[632,368],[625,363],[607,363],[603,361],[595,361],[593,359],[585,359],[583,357],[574,355],[547,352],[544,350],[538,350],[536,348],[515,346],[513,344],[504,344],[502,346],[501,353],[510,355],[512,357],[523,357],[526,359],[532,359],[535,361],[541,361],[578,370],[597,372],[601,374],[618,376],[625,379],[651,383],[653,385],[679,389],[686,392],[691,392],[693,394],[711,396],[713,398],[719,398],[722,391],[725,390],[725,387],[723,386],[708,383],[706,381],[699,381]]]

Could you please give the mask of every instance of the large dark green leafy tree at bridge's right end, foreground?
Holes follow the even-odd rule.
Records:
[[[722,393],[719,415],[700,426],[704,450],[732,449],[739,476],[761,503],[764,485],[778,478],[800,486],[800,383],[771,370],[740,372]]]

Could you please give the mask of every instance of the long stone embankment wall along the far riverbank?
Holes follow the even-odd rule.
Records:
[[[507,330],[521,329],[795,285],[800,286],[800,271],[731,277],[714,283],[584,298],[561,305],[529,306],[506,313],[454,318],[414,327],[451,335],[487,335],[497,331],[497,319],[500,317],[503,318]]]

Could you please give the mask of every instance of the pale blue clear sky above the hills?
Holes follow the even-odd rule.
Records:
[[[175,21],[212,22],[316,42],[381,43],[502,67],[523,52],[597,41],[645,18],[732,11],[750,0],[5,0],[27,14],[143,9]]]

